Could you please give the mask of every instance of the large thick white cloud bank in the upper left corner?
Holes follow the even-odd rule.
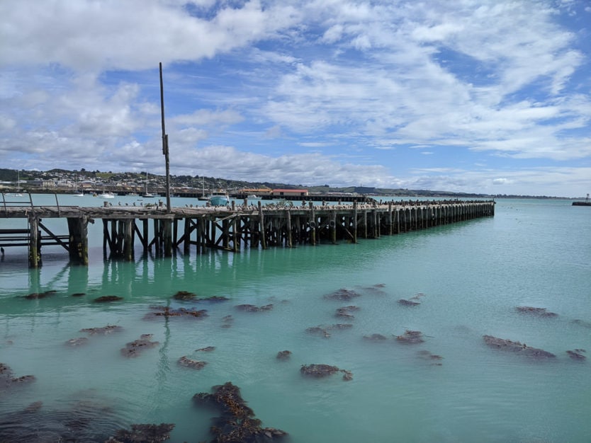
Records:
[[[202,6],[212,6],[203,2]],[[177,2],[6,0],[0,3],[0,66],[59,63],[76,70],[149,69],[198,60],[265,38],[295,22],[288,5],[218,9],[211,21]]]

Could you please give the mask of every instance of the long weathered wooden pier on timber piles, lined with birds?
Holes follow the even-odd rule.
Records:
[[[28,229],[0,229],[0,246],[28,246],[29,266],[39,267],[41,247],[60,245],[71,264],[88,265],[88,224],[101,220],[105,257],[134,260],[135,246],[143,253],[154,248],[169,257],[182,248],[201,254],[210,248],[239,252],[242,248],[292,248],[308,244],[356,243],[429,229],[478,217],[492,217],[495,202],[474,200],[399,201],[385,204],[313,205],[302,201],[231,207],[0,207],[0,219],[28,219]],[[67,234],[54,234],[43,219],[67,219]],[[150,224],[152,228],[150,229]]]

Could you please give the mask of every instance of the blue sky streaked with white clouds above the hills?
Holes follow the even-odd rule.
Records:
[[[2,0],[0,167],[591,192],[587,0]]]

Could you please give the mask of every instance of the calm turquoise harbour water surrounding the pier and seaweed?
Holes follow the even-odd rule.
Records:
[[[101,205],[96,197],[60,199]],[[499,200],[492,218],[358,244],[147,259],[138,247],[135,263],[103,261],[97,222],[87,268],[69,267],[65,251],[47,247],[43,267],[28,270],[26,251],[7,248],[0,362],[36,380],[0,391],[0,416],[43,401],[34,420],[84,410],[96,441],[133,423],[160,422],[176,425],[173,442],[208,441],[216,414],[191,398],[232,381],[262,425],[285,430],[290,442],[590,442],[591,208],[570,203]],[[60,231],[57,221],[44,223]],[[325,298],[343,288],[359,297]],[[56,292],[22,297],[47,290]],[[229,300],[171,299],[181,290]],[[424,294],[420,305],[398,303],[417,294]],[[93,302],[102,295],[123,300]],[[239,304],[273,309],[244,312]],[[350,305],[359,308],[354,318],[335,316]],[[208,316],[148,320],[150,306],[207,309]],[[517,306],[558,316],[528,316]],[[330,337],[306,332],[335,323],[353,326],[329,330]],[[106,325],[123,329],[80,332]],[[424,343],[395,340],[405,330],[420,330]],[[388,340],[364,340],[375,333]],[[158,345],[123,357],[120,349],[141,334]],[[495,350],[483,335],[556,358]],[[65,345],[79,337],[86,345]],[[196,351],[206,346],[215,350]],[[566,354],[575,349],[587,350],[587,359]],[[281,350],[291,358],[276,359]],[[182,367],[182,356],[208,364]],[[353,379],[302,376],[301,365],[313,363],[335,365]]]

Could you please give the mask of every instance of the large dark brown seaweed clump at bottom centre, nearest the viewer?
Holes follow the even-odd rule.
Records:
[[[230,381],[213,386],[213,393],[196,393],[193,401],[198,405],[215,405],[221,415],[213,418],[210,427],[213,442],[254,443],[282,439],[287,432],[274,427],[261,427],[261,420],[255,418],[254,411],[247,406],[240,395],[240,388]]]

